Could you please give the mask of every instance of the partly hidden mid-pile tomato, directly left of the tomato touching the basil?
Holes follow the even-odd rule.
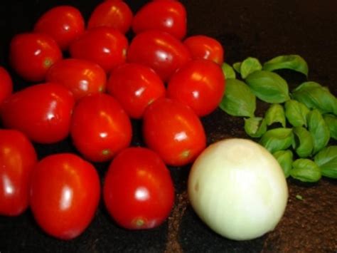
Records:
[[[147,105],[166,95],[161,78],[151,68],[125,63],[112,71],[107,92],[117,98],[131,118],[141,118]]]

